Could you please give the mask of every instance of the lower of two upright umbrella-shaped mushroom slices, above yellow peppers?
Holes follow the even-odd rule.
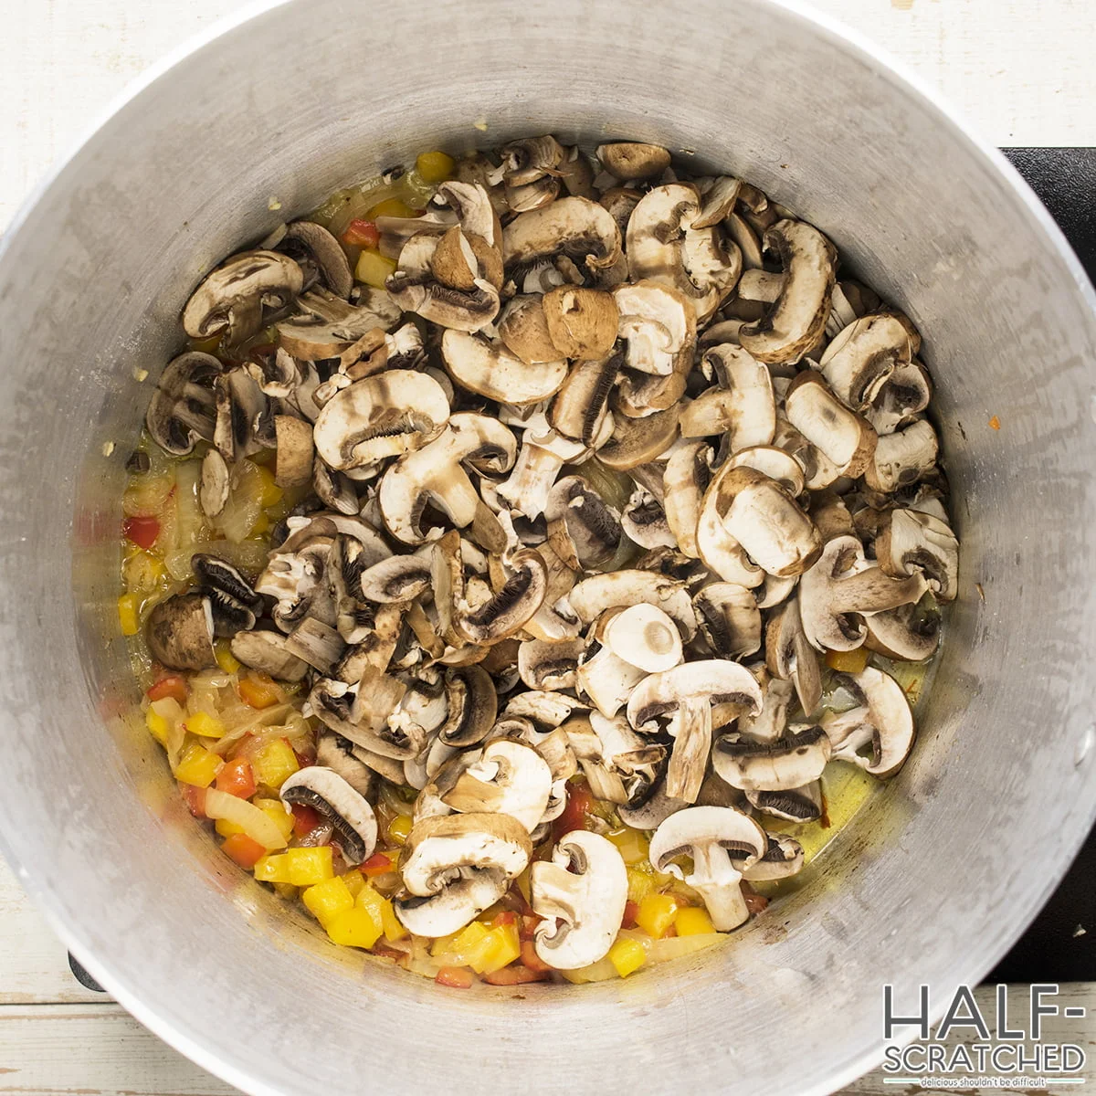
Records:
[[[684,879],[698,891],[717,932],[729,933],[750,920],[742,894],[742,871],[768,852],[768,840],[753,819],[732,807],[687,807],[663,822],[651,837],[651,867]],[[733,854],[733,859],[732,859]],[[688,856],[685,871],[674,857]]]

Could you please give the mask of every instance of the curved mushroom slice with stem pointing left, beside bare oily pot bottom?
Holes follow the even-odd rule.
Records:
[[[822,729],[833,743],[836,761],[852,762],[866,773],[886,779],[903,765],[913,749],[914,724],[910,700],[890,674],[866,666],[849,674],[861,707],[822,718]],[[871,746],[871,756],[860,751]]]

